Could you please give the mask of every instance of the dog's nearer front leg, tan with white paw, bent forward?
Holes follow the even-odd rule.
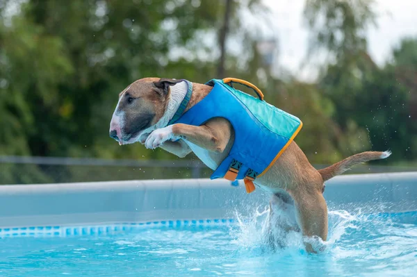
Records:
[[[179,138],[196,144],[208,151],[222,153],[231,137],[229,121],[211,119],[202,126],[173,124],[153,131],[145,142],[148,149],[155,149],[168,140]]]

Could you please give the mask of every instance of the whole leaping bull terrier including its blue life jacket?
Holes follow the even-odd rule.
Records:
[[[391,152],[366,151],[317,170],[293,141],[302,126],[299,119],[265,103],[250,83],[213,80],[141,78],[131,83],[119,94],[110,136],[120,145],[140,142],[180,158],[194,152],[213,169],[212,178],[244,179],[247,192],[254,185],[270,192],[270,216],[277,209],[287,212],[286,222],[270,224],[299,230],[306,251],[316,253],[311,239],[327,240],[325,181]],[[259,99],[236,92],[232,82],[252,87]]]

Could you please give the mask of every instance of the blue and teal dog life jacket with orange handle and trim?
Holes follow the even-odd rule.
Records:
[[[213,117],[227,119],[234,128],[234,144],[211,179],[253,181],[265,174],[291,144],[302,122],[261,99],[236,90],[232,83],[252,87],[263,99],[261,91],[246,81],[213,79],[206,83],[213,87],[211,92],[173,123],[200,126]]]

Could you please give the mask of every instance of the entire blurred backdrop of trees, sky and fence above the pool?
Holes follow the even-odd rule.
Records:
[[[417,169],[414,0],[0,0],[0,183],[208,177],[108,137],[138,78],[242,78],[299,117],[316,167]],[[244,90],[243,87],[240,89]],[[244,90],[245,91],[245,90]]]

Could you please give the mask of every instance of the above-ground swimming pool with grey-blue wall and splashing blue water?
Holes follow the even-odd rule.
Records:
[[[415,276],[417,173],[327,183],[329,240],[263,243],[268,198],[227,181],[0,187],[1,276]]]

